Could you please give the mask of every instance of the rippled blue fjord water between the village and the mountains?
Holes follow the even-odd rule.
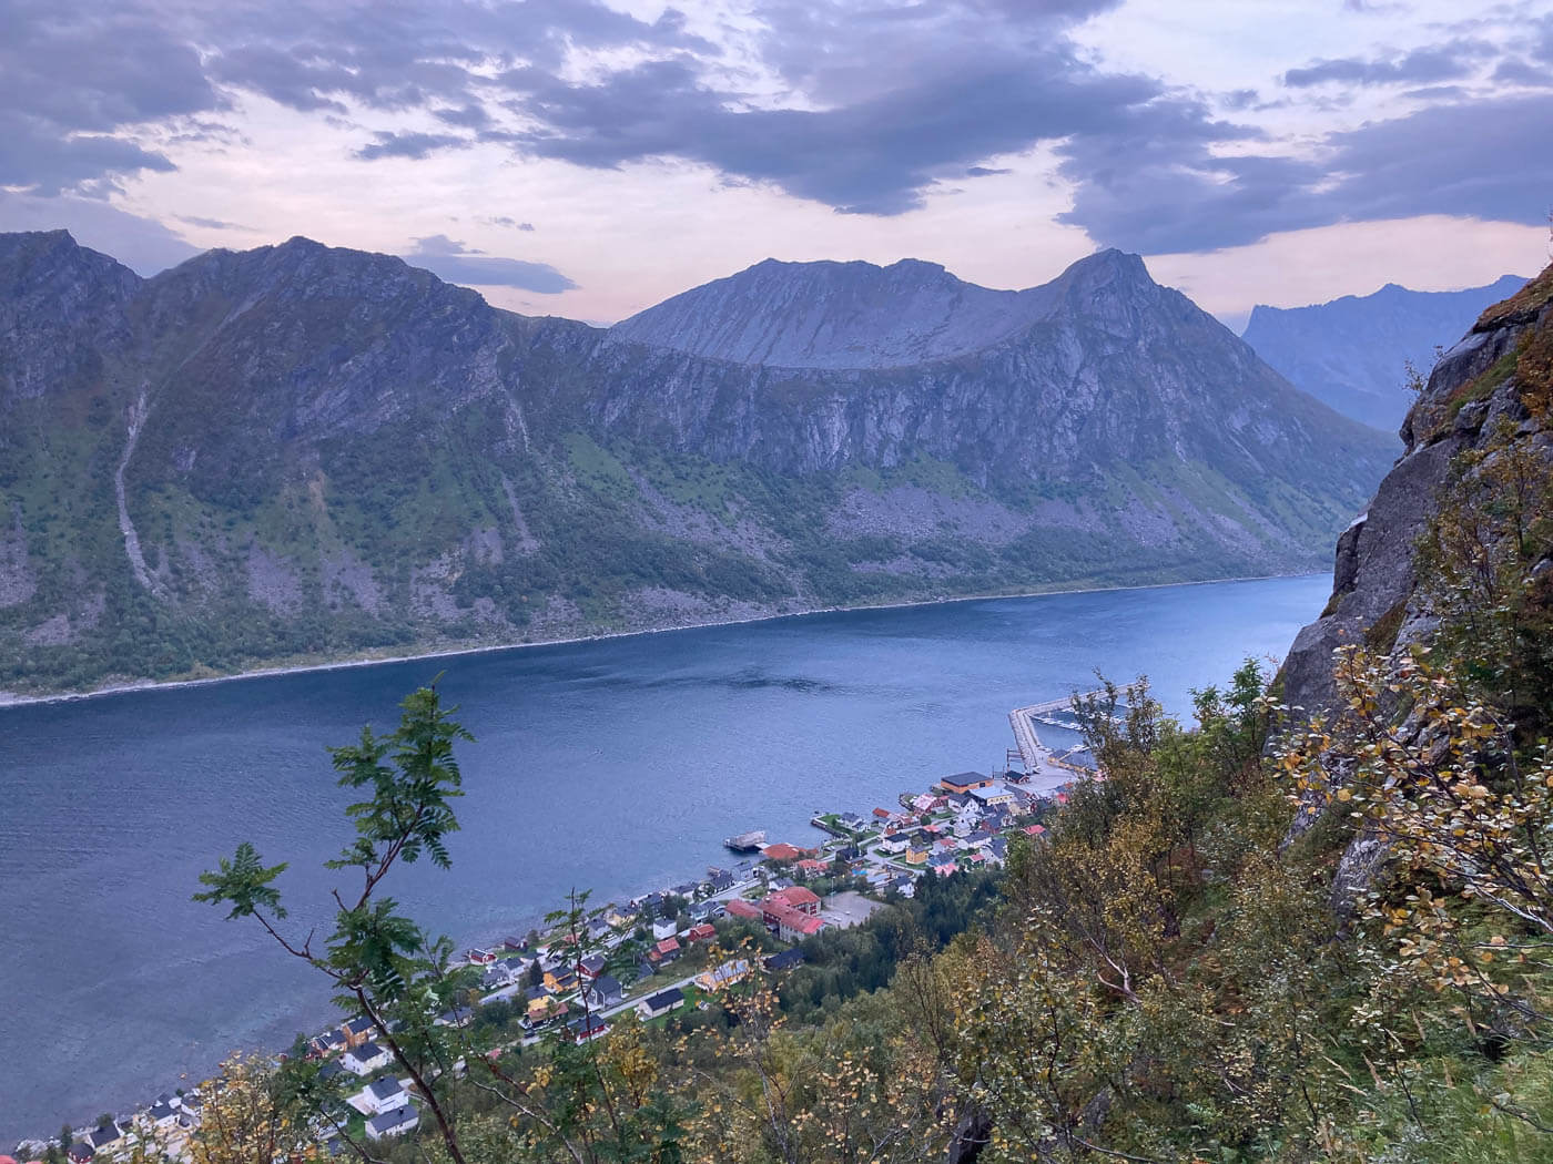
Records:
[[[306,968],[189,894],[253,840],[294,922],[343,841],[328,743],[446,670],[463,751],[453,869],[394,894],[458,941],[812,843],[815,809],[1002,767],[1011,708],[1146,672],[1166,706],[1281,655],[1326,577],[957,602],[0,708],[0,1145],[124,1110],[331,1010]]]

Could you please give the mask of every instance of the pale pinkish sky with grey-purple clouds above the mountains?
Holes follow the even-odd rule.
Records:
[[[306,234],[610,323],[764,258],[1233,327],[1550,258],[1553,0],[0,0],[0,230]]]

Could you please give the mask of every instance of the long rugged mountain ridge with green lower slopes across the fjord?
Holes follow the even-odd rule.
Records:
[[[306,239],[0,236],[0,688],[1306,570],[1390,459],[1135,256],[859,267],[604,331]]]

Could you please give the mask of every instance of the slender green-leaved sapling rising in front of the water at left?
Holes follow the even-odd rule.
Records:
[[[452,719],[457,709],[443,709],[435,681],[399,706],[399,726],[388,736],[363,726],[359,743],[329,750],[340,784],[360,790],[363,799],[346,807],[356,837],[328,868],[354,869],[360,882],[356,889],[332,891],[335,925],[321,945],[314,933],[295,937],[281,931],[286,908],[273,882],[286,864],[266,866],[248,841],[217,869],[200,874],[208,888],[194,900],[228,906],[228,919],[256,919],[286,953],[331,982],[346,1012],[371,1018],[424,1097],[449,1158],[463,1164],[457,1131],[439,1100],[439,1079],[452,1055],[433,1020],[466,979],[449,970],[452,944],[426,934],[380,889],[401,861],[427,857],[441,869],[450,866],[446,837],[458,829],[450,801],[463,795],[453,745],[474,737]]]

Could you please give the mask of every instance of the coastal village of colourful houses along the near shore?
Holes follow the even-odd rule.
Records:
[[[817,812],[809,823],[826,833],[818,844],[769,843],[764,830],[730,837],[731,868],[708,868],[629,902],[579,911],[548,931],[466,950],[461,964],[475,986],[436,1023],[495,1029],[497,1051],[544,1038],[582,1044],[607,1035],[627,1012],[640,1023],[668,1023],[711,1007],[753,973],[790,972],[804,962],[806,941],[867,922],[888,902],[913,897],[926,877],[1002,868],[1011,844],[1039,841],[1045,816],[1067,801],[1075,779],[1104,779],[1082,764],[1081,748],[1054,751],[1036,734],[1037,722],[1072,729],[1068,706],[1059,700],[1009,712],[1017,748],[1000,773],[944,776],[867,815]],[[385,1034],[357,1017],[290,1051],[318,1060],[345,1096],[317,1128],[329,1155],[349,1152],[345,1135],[385,1141],[419,1127],[415,1088],[394,1074]],[[129,1114],[75,1130],[68,1159],[112,1161],[148,1141],[186,1158],[205,1103],[202,1088],[162,1093]],[[23,1141],[19,1152],[34,1156],[47,1147]],[[0,1155],[0,1164],[19,1161]]]

